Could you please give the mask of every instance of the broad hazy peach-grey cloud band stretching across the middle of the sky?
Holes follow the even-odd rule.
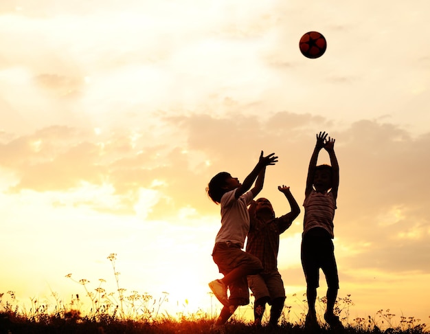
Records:
[[[203,214],[213,210],[204,192],[210,177],[227,170],[244,179],[260,150],[280,156],[282,167],[269,169],[268,186],[274,189],[290,183],[301,201],[315,133],[327,129],[337,138],[341,164],[337,220],[354,230],[357,241],[369,238],[367,229],[359,227],[369,220],[374,221],[372,225],[379,223],[383,212],[403,208],[407,218],[419,221],[426,207],[420,192],[428,183],[423,175],[429,166],[425,154],[429,136],[411,137],[394,124],[365,120],[333,132],[336,124],[331,120],[287,112],[267,120],[236,113],[230,118],[162,116],[157,122],[159,129],[172,129],[176,140],[165,137],[159,142],[159,137],[152,134],[150,139],[144,131],[133,135],[117,129],[97,136],[53,126],[13,140],[4,137],[0,162],[19,176],[19,183],[10,189],[14,192],[69,190],[81,182],[111,184],[132,210],[139,189],[146,188],[162,193],[152,208],[152,218],[165,214],[166,207],[174,212],[190,206]],[[327,159],[324,153],[321,159]],[[362,213],[353,218],[343,214],[356,210]]]

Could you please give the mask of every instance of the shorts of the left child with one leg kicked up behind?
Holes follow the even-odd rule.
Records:
[[[262,270],[261,261],[249,253],[243,252],[240,245],[230,242],[216,243],[212,252],[214,263],[218,265],[221,274],[227,275],[237,267],[246,266],[247,269]],[[244,276],[229,285],[229,302],[231,305],[249,304],[249,289],[247,277]]]

